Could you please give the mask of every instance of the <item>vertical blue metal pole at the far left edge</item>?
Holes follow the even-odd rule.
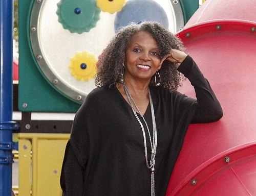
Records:
[[[0,196],[12,191],[12,0],[0,0]]]

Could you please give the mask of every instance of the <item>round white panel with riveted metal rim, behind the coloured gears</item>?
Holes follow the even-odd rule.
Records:
[[[70,2],[72,3],[72,1]],[[176,4],[168,0],[155,2],[165,10],[166,15],[171,15],[168,16],[171,18],[168,19],[170,31],[176,32],[177,29],[183,27],[183,14],[179,2]],[[100,12],[100,20],[97,21],[96,27],[91,28],[89,32],[71,33],[64,29],[58,21],[56,13],[58,3],[58,0],[44,0],[39,3],[35,1],[32,3],[28,27],[32,53],[36,65],[46,80],[70,100],[82,103],[86,95],[96,86],[93,78],[82,81],[78,80],[79,77],[75,78],[71,74],[69,68],[71,59],[77,53],[85,51],[94,55],[97,59],[115,35],[114,21],[116,13]],[[83,8],[77,4],[75,7]],[[71,11],[74,14],[72,17],[75,18],[76,15],[79,15],[76,9],[71,8]],[[74,11],[76,12],[74,13]],[[79,13],[82,13],[82,10],[79,10]],[[84,62],[80,64],[82,63]]]

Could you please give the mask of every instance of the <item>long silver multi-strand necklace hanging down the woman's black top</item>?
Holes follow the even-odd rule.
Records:
[[[144,151],[145,151],[145,160],[146,160],[146,166],[148,169],[151,169],[151,196],[155,196],[155,164],[156,164],[156,161],[155,161],[155,158],[156,158],[156,152],[157,152],[157,127],[156,127],[156,119],[155,119],[155,113],[154,113],[154,106],[153,106],[153,102],[152,102],[152,97],[151,97],[151,94],[150,94],[150,89],[148,89],[148,95],[150,97],[150,108],[151,108],[151,116],[152,116],[152,124],[153,124],[153,142],[152,142],[152,139],[151,139],[151,135],[150,135],[150,130],[148,129],[148,126],[147,126],[147,123],[146,123],[146,120],[145,118],[143,117],[143,115],[141,114],[138,106],[136,105],[133,97],[131,96],[131,94],[129,93],[125,83],[123,82],[123,89],[124,89],[124,92],[127,96],[127,100],[129,101],[129,104],[133,110],[133,113],[135,115],[135,117],[137,118],[140,126],[141,126],[141,130],[142,130],[142,133],[143,133],[143,140],[144,140]],[[142,122],[140,121],[138,115],[136,114],[134,108],[133,108],[133,104],[134,106],[136,107],[137,111],[139,112],[140,116],[142,117],[145,125],[146,125],[146,128],[147,128],[147,132],[148,132],[148,135],[150,136],[150,144],[151,144],[151,160],[150,160],[150,164],[148,164],[148,160],[147,160],[147,147],[146,147],[146,135],[145,135],[145,130],[144,130],[144,127],[142,125]]]

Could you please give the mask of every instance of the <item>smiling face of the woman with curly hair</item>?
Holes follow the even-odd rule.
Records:
[[[139,31],[131,37],[125,57],[126,80],[150,81],[161,68],[157,42],[146,31]]]

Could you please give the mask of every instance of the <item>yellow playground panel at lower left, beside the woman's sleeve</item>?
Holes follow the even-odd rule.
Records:
[[[61,165],[70,134],[18,134],[18,195],[61,196]]]

